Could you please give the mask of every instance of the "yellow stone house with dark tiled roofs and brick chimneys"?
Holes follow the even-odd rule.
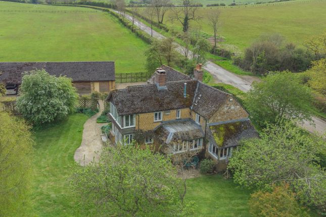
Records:
[[[202,150],[223,161],[243,138],[257,136],[248,113],[231,95],[202,83],[198,65],[194,79],[162,66],[148,84],[112,90],[110,103],[114,143],[166,144],[165,153]],[[220,164],[219,164],[220,165]],[[221,169],[221,168],[220,168]]]

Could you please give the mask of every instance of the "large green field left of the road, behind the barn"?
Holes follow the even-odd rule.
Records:
[[[145,70],[148,44],[112,15],[87,8],[1,1],[0,10],[92,12],[0,12],[0,62],[115,61],[118,73]]]

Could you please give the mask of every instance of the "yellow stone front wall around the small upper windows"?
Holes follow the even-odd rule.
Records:
[[[162,121],[176,120],[176,110],[162,112]],[[180,119],[190,118],[190,108],[181,108]],[[138,130],[153,130],[160,125],[161,121],[154,122],[154,113],[144,113],[136,115],[136,129]]]

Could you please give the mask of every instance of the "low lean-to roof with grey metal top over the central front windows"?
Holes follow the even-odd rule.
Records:
[[[155,134],[166,144],[204,137],[201,126],[191,119],[164,122],[156,128]]]

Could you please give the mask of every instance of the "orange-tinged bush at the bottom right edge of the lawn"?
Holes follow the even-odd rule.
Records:
[[[291,191],[288,184],[273,185],[273,190],[257,191],[249,200],[250,213],[261,217],[297,217],[309,216],[296,200],[296,194]]]

